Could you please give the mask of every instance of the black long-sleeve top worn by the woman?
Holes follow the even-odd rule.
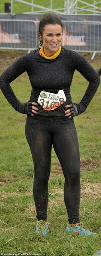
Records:
[[[64,89],[66,96],[63,111],[61,111],[61,107],[47,111],[40,106],[36,115],[65,116],[65,105],[71,103],[70,86],[75,69],[89,81],[89,86],[80,101],[87,107],[98,88],[100,79],[94,68],[82,55],[63,47],[58,57],[53,60],[42,57],[39,54],[39,49],[18,58],[1,74],[0,89],[8,102],[16,109],[19,101],[9,83],[27,71],[32,86],[29,101],[37,102],[42,90],[57,93],[60,89]]]

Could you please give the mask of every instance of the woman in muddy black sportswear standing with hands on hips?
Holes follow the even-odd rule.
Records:
[[[27,114],[26,137],[34,163],[33,196],[36,205],[36,233],[48,235],[48,179],[51,147],[65,177],[64,201],[68,214],[66,231],[95,235],[80,227],[80,156],[73,117],[83,113],[100,83],[98,74],[85,58],[62,48],[62,21],[45,14],[39,23],[41,48],[15,61],[0,77],[0,88],[16,111]],[[78,70],[89,86],[80,101],[72,103],[70,86]],[[32,85],[30,100],[21,103],[9,83],[27,71]]]

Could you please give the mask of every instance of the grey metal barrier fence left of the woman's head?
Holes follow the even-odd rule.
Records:
[[[0,48],[33,50],[38,45],[36,21],[0,20]]]

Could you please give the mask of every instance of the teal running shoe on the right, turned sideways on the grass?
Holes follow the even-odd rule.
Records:
[[[66,227],[67,232],[75,232],[79,235],[97,235],[97,233],[93,233],[90,231],[87,231],[86,229],[83,229],[82,227],[76,225],[74,227],[68,226]]]

